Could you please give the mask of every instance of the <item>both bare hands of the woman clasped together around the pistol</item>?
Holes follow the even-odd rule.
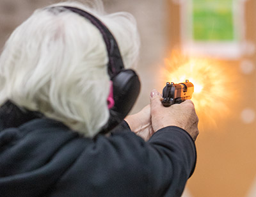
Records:
[[[132,132],[148,141],[157,130],[176,126],[186,130],[196,140],[199,134],[198,117],[193,102],[186,100],[181,104],[164,107],[161,103],[162,99],[161,94],[153,90],[150,95],[150,105],[144,107],[139,113],[125,118]]]

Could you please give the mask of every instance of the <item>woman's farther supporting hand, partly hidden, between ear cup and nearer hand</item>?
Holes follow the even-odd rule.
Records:
[[[140,112],[125,118],[132,132],[136,133],[145,141],[148,141],[152,134],[154,134],[150,111],[150,105],[147,105]]]

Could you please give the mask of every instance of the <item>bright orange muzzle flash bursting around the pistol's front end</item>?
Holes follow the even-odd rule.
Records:
[[[226,63],[227,64],[227,63]],[[216,124],[216,118],[227,117],[235,88],[235,74],[223,61],[209,58],[191,58],[175,51],[166,59],[164,81],[182,83],[189,79],[194,84],[192,100],[202,121]],[[234,69],[233,69],[234,70]],[[236,99],[237,98],[236,94]]]

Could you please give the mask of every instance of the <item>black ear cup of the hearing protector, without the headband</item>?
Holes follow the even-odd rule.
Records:
[[[122,70],[111,81],[113,81],[115,105],[109,109],[109,121],[101,133],[109,132],[124,120],[140,93],[140,79],[134,70]]]

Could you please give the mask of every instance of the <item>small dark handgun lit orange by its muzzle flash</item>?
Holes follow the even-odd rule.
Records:
[[[167,82],[163,89],[162,104],[164,107],[169,107],[173,104],[180,104],[187,99],[191,99],[193,92],[194,85],[188,80],[179,84]]]

